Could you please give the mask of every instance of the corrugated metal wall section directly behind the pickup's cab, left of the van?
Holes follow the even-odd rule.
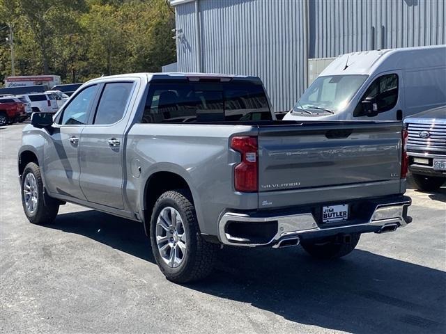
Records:
[[[176,6],[176,28],[194,40],[193,13]],[[201,72],[261,77],[276,111],[289,110],[305,89],[302,1],[201,0]],[[197,70],[178,40],[178,70]]]

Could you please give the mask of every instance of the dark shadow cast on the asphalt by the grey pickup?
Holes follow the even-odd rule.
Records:
[[[49,228],[155,263],[141,223],[84,211],[60,214]],[[300,247],[224,248],[210,278],[184,287],[258,308],[246,317],[259,331],[284,318],[351,333],[446,332],[445,272],[360,249],[320,262]]]

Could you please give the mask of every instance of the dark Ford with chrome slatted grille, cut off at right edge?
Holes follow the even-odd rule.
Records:
[[[446,182],[446,106],[404,120],[409,170],[417,188],[435,191]]]

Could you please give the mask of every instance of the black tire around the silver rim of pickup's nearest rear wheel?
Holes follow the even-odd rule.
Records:
[[[191,197],[189,191],[184,189],[167,191],[156,201],[151,217],[150,236],[153,256],[164,276],[174,283],[190,283],[208,276],[213,270],[219,248],[217,244],[210,244],[201,237]],[[173,207],[180,214],[187,237],[186,251],[178,267],[169,267],[157,246],[157,218],[166,207]]]

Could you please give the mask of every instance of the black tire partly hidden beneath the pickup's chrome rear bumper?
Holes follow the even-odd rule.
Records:
[[[332,260],[339,257],[343,257],[355,249],[357,243],[360,241],[361,234],[350,234],[351,237],[348,241],[338,240],[337,238],[327,238],[317,241],[302,242],[302,248],[304,248],[309,255],[316,257],[320,260]]]

